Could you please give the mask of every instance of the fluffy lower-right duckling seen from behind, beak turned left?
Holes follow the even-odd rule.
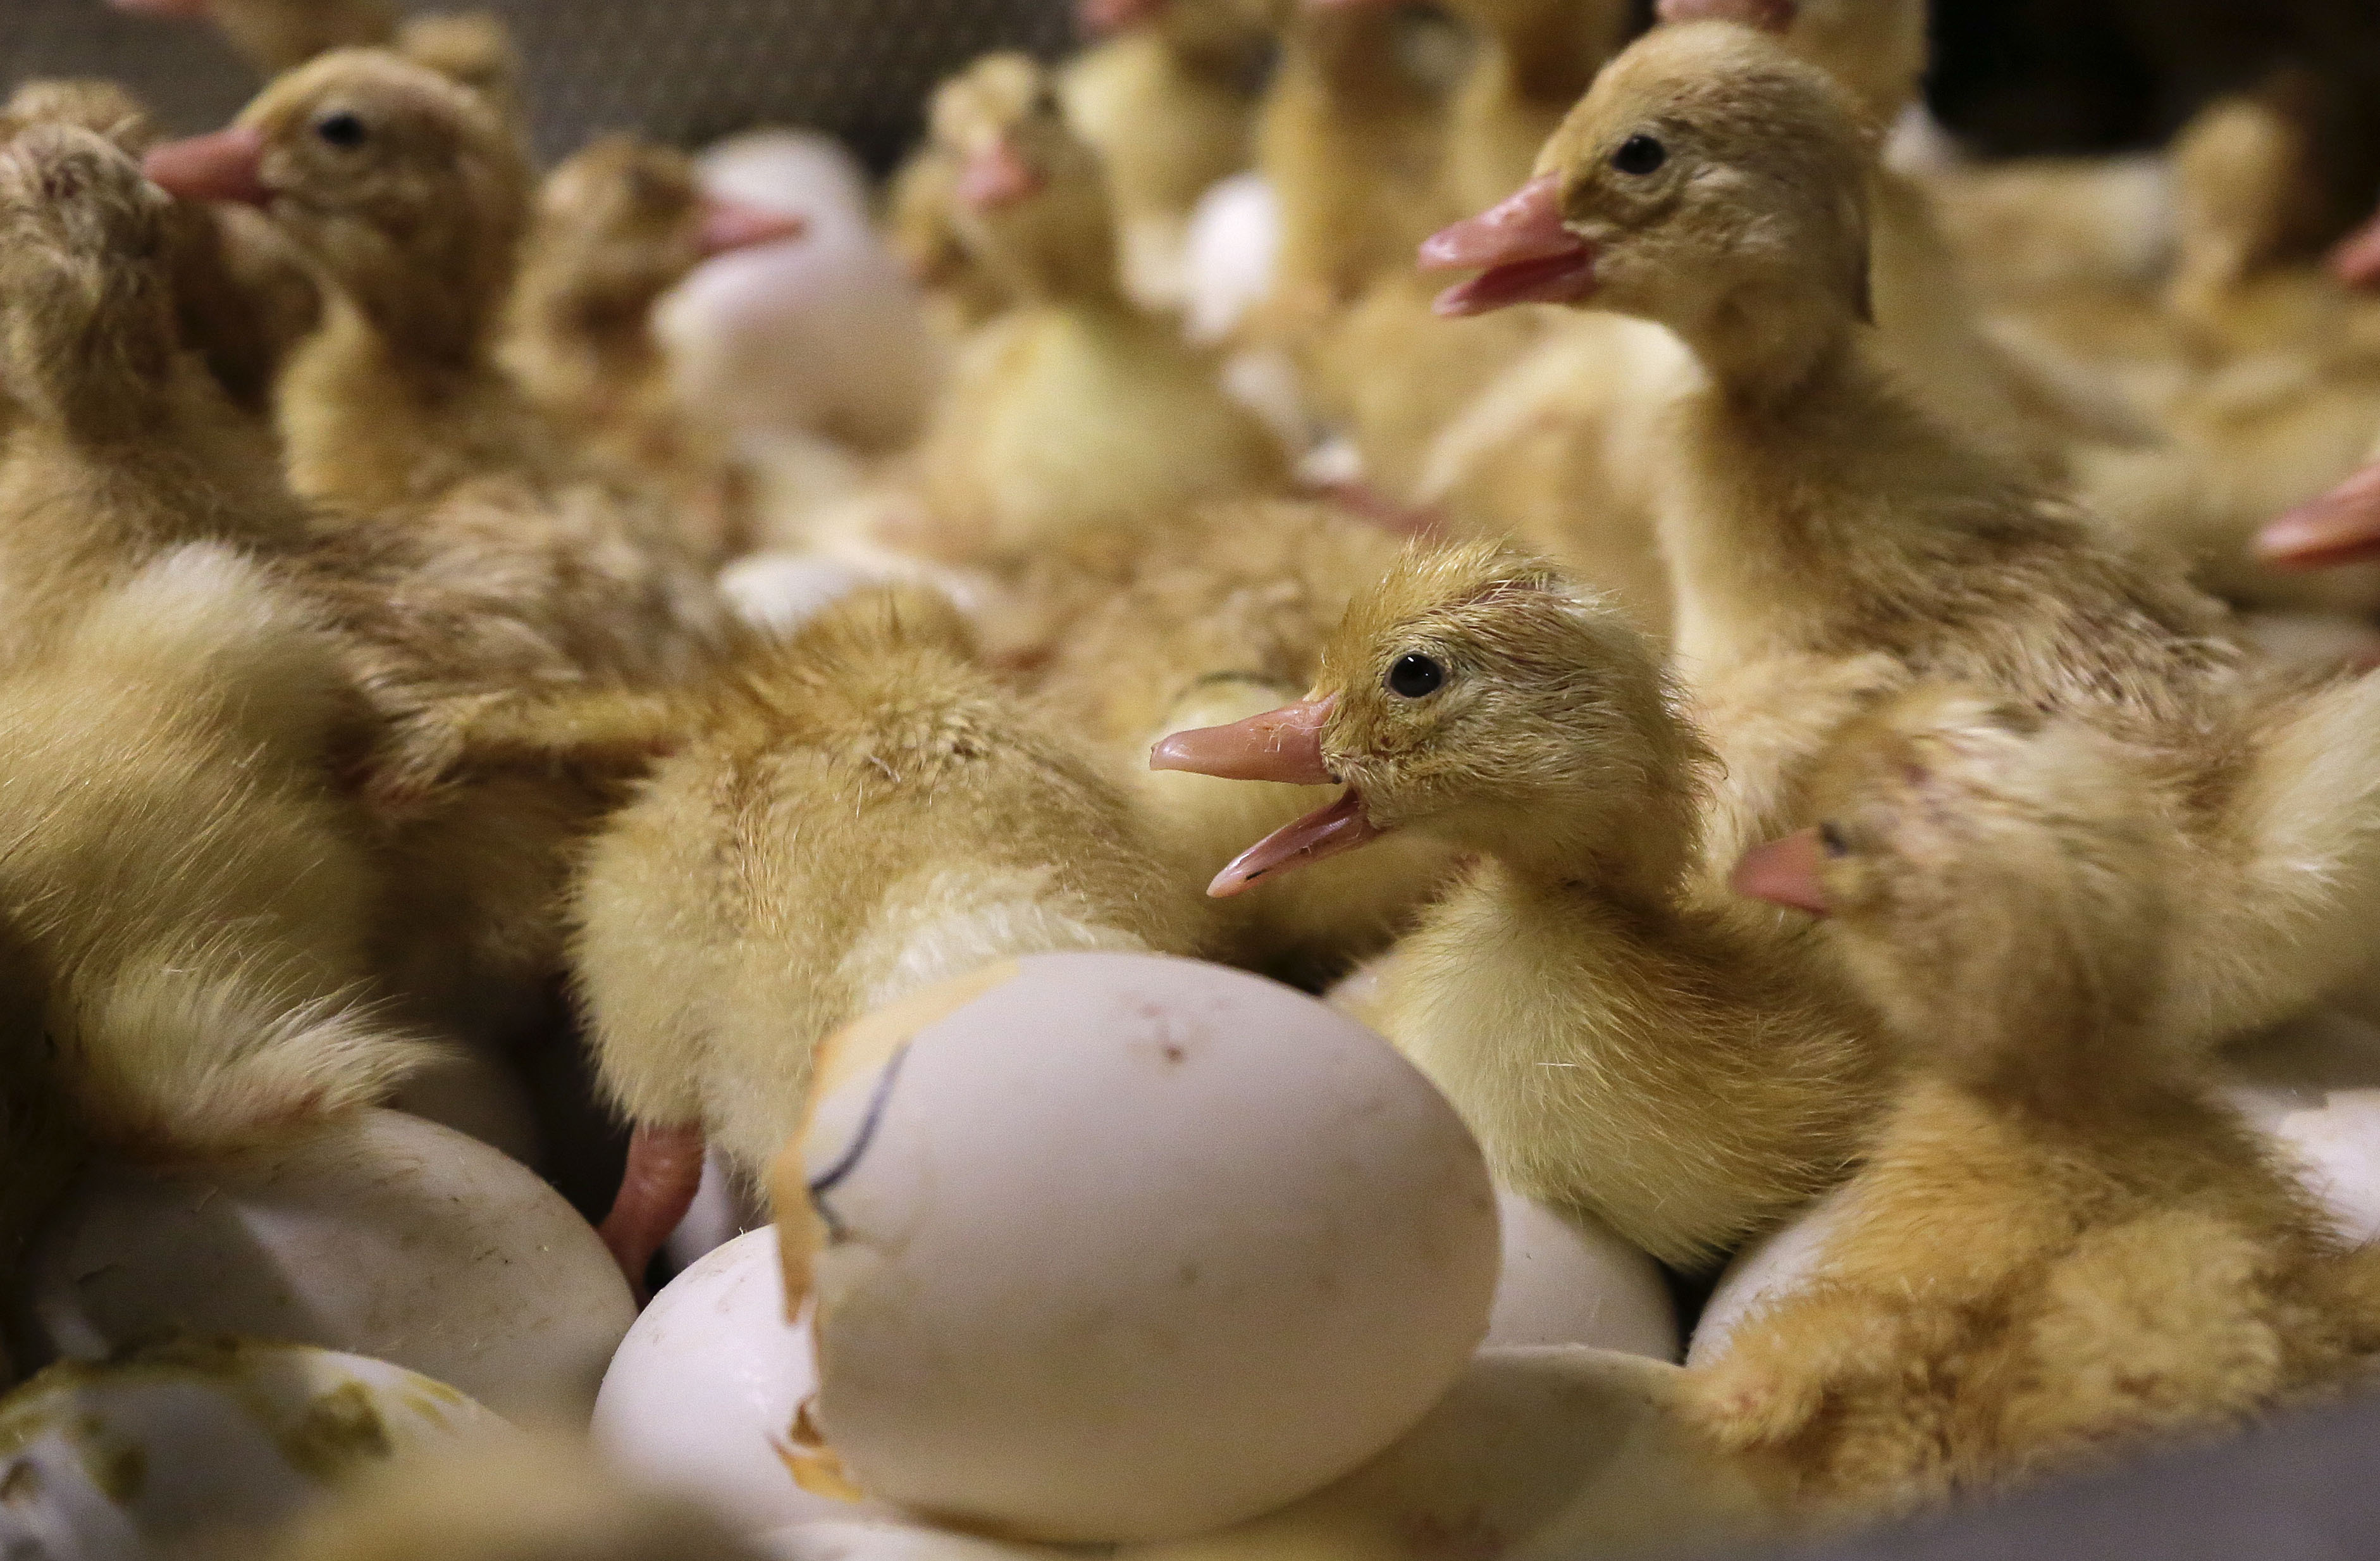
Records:
[[[2380,1347],[2380,1252],[2159,1028],[2187,852],[2132,754],[1918,688],[1828,759],[1747,895],[1828,930],[1906,1059],[1816,1280],[1692,1371],[1695,1418],[1799,1494],[1914,1506],[2237,1425]]]

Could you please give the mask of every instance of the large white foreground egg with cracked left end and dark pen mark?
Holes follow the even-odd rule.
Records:
[[[1378,1035],[1183,959],[1035,954],[828,1047],[776,1204],[866,1490],[1028,1540],[1188,1535],[1347,1473],[1488,1328],[1478,1145]],[[788,1235],[788,1242],[795,1237]]]

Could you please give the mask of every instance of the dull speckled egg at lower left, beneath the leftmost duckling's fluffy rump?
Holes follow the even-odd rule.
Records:
[[[635,1302],[562,1195],[495,1149],[362,1111],[202,1166],[98,1166],[36,1240],[29,1363],[167,1333],[347,1349],[500,1413],[581,1418]]]

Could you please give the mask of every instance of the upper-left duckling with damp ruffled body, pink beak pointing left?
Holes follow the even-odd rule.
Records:
[[[688,678],[724,609],[654,495],[590,466],[495,362],[528,164],[502,114],[376,50],[324,55],[150,176],[259,202],[326,319],[281,376],[305,569],[381,719],[390,980],[426,1016],[505,1028],[562,971],[571,840],[616,776],[457,771],[490,707]]]

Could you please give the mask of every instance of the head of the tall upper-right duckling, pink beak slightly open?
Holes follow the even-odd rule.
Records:
[[[1483,269],[1440,314],[1566,302],[1656,319],[1697,347],[1868,319],[1873,131],[1775,36],[1659,29],[1614,59],[1504,205],[1430,238]]]

